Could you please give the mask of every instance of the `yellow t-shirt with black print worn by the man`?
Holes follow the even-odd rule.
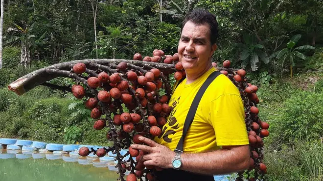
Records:
[[[182,137],[190,105],[199,88],[214,71],[216,69],[212,67],[198,80],[186,84],[185,79],[178,85],[169,101],[173,110],[161,136],[155,137],[156,142],[175,150]],[[219,75],[208,86],[199,103],[184,140],[184,152],[199,153],[216,150],[223,145],[249,144],[244,118],[239,90],[229,78]]]

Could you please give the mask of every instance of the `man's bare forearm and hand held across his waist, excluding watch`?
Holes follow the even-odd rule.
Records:
[[[138,138],[147,145],[132,144],[131,147],[147,152],[141,157],[144,165],[173,168],[175,152],[148,138]],[[226,146],[222,150],[208,153],[184,153],[181,156],[182,170],[200,174],[219,175],[248,169],[250,161],[249,145]]]

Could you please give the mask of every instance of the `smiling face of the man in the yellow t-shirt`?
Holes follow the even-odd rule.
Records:
[[[186,22],[178,44],[178,56],[186,71],[199,73],[210,64],[210,57],[216,49],[211,46],[208,24],[196,25]]]

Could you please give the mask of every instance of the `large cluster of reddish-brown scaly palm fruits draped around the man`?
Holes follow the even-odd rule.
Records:
[[[113,141],[113,146],[89,150],[82,147],[81,156],[88,156],[94,152],[98,157],[104,157],[109,151],[116,155],[119,180],[124,181],[124,173],[129,170],[127,181],[137,181],[137,178],[146,181],[157,180],[154,177],[155,170],[159,167],[145,167],[140,157],[145,154],[141,150],[130,148],[132,143],[142,144],[138,136],[152,139],[161,134],[161,128],[166,123],[166,118],[172,111],[168,106],[172,90],[169,84],[169,74],[164,74],[158,69],[158,64],[172,64],[175,80],[185,78],[185,71],[179,61],[178,54],[166,55],[162,50],[154,50],[153,57],[146,56],[142,59],[136,53],[133,59],[141,62],[154,62],[142,66],[134,65],[126,61],[117,64],[109,63],[76,63],[71,73],[79,78],[72,85],[71,91],[75,98],[84,99],[85,106],[91,109],[91,117],[95,119],[93,128],[102,130],[107,128],[107,140]],[[223,62],[223,67],[212,63],[222,74],[226,75],[239,89],[245,108],[245,122],[251,148],[251,164],[246,171],[239,172],[237,181],[242,181],[246,172],[250,181],[263,177],[266,166],[262,163],[264,137],[269,135],[269,124],[258,117],[259,99],[256,95],[257,86],[251,85],[246,79],[246,71],[230,68],[230,60]],[[75,78],[75,77],[74,77]],[[161,95],[161,89],[165,92]],[[127,111],[125,111],[127,110]],[[129,149],[125,155],[120,154],[121,149]],[[125,157],[129,157],[125,160]],[[136,161],[133,159],[136,158]],[[253,175],[253,177],[251,177]]]

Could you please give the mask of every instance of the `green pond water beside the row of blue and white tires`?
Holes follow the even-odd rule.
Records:
[[[116,181],[113,165],[99,158],[3,149],[0,181]]]

